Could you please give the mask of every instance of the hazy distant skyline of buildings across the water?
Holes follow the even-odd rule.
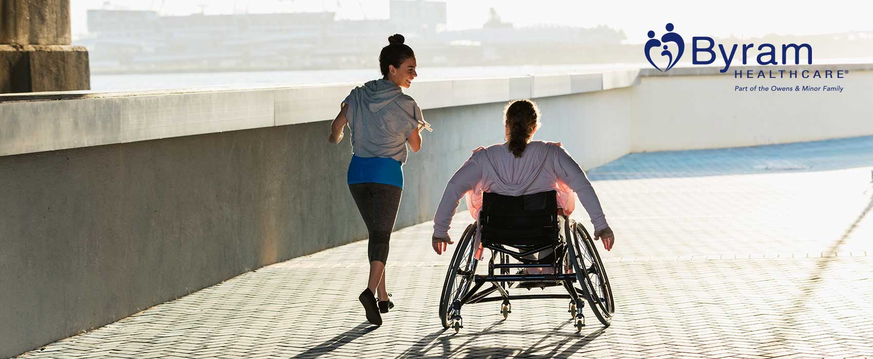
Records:
[[[137,71],[240,71],[367,67],[388,36],[402,33],[423,63],[579,63],[592,44],[619,46],[622,31],[606,27],[519,29],[497,11],[482,29],[446,31],[446,3],[389,0],[388,19],[337,21],[333,12],[160,16],[150,10],[88,10],[88,36],[96,73]]]

